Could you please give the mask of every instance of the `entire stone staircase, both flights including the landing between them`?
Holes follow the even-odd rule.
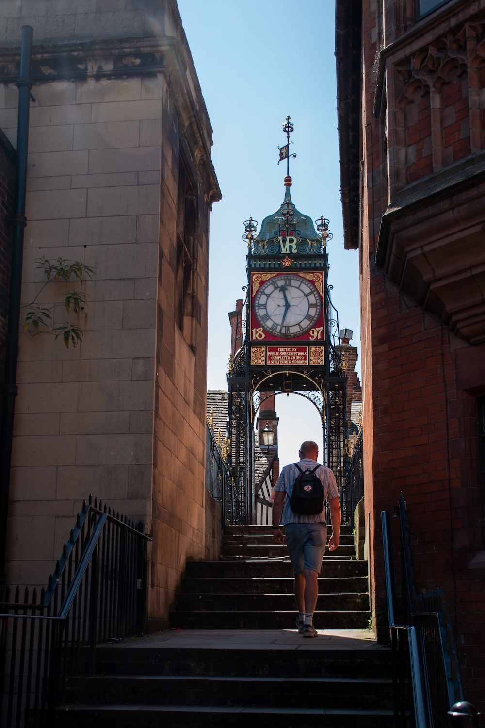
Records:
[[[187,564],[176,629],[98,647],[97,675],[69,679],[56,726],[390,728],[390,650],[356,630],[369,596],[351,539],[324,559],[314,621],[326,631],[303,639],[286,549],[267,527],[226,529],[220,561]]]

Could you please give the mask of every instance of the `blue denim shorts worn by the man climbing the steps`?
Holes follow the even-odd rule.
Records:
[[[326,549],[326,523],[286,523],[284,533],[293,573],[302,574],[303,569],[320,573]]]

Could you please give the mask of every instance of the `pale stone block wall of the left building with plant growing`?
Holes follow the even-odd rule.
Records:
[[[91,491],[152,534],[160,627],[186,559],[205,554],[208,218],[220,192],[175,1],[106,7],[0,9],[9,39],[34,31],[23,304],[44,283],[39,256],[95,270],[76,348],[21,335],[7,570],[44,584]],[[12,138],[16,52],[0,57]],[[64,293],[49,284],[37,302]]]

